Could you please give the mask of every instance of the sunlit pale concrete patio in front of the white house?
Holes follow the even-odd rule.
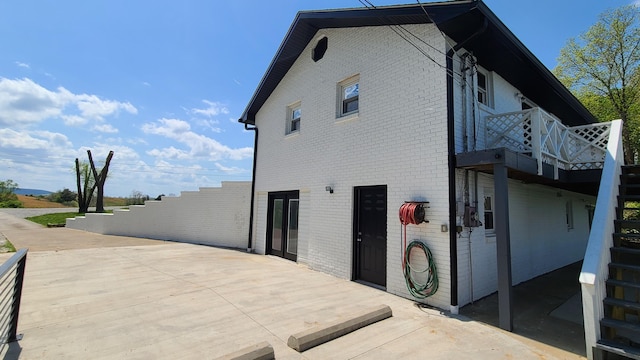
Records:
[[[581,359],[294,262],[191,244],[44,229],[0,212],[28,247],[9,359],[201,359],[267,341],[276,359]],[[386,304],[393,317],[302,353],[290,335]]]

